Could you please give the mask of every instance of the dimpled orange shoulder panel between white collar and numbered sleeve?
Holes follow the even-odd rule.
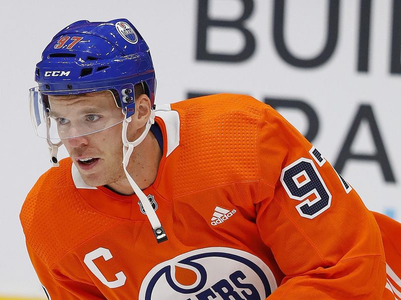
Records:
[[[218,94],[171,104],[179,114],[178,194],[259,179],[258,131],[272,108],[246,95]]]

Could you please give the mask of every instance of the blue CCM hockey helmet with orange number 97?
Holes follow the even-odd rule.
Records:
[[[38,87],[30,89],[31,117],[36,134],[48,139],[58,137],[49,136],[50,125],[44,126],[50,122],[49,95],[109,90],[129,118],[135,112],[134,86],[142,83],[154,105],[156,78],[149,47],[126,19],[84,20],[64,28],[43,51],[35,81]]]

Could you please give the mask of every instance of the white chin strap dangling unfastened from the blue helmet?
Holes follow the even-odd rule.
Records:
[[[139,201],[141,202],[143,209],[145,210],[146,216],[149,219],[150,224],[152,225],[153,233],[154,236],[156,237],[156,240],[158,243],[167,240],[167,235],[161,226],[161,223],[159,221],[159,218],[156,215],[156,212],[153,210],[152,205],[150,204],[149,199],[145,196],[145,194],[142,192],[142,190],[139,188],[139,186],[135,183],[135,181],[132,179],[131,175],[129,175],[127,171],[127,166],[129,163],[129,158],[131,157],[132,152],[134,151],[134,148],[138,146],[146,137],[150,130],[150,126],[154,124],[154,117],[155,113],[153,110],[150,111],[150,117],[149,120],[146,123],[145,130],[142,132],[141,136],[137,138],[135,141],[130,142],[127,139],[127,129],[128,129],[128,124],[131,122],[131,117],[128,119],[125,119],[122,123],[122,132],[121,132],[121,137],[122,137],[122,142],[123,142],[123,168],[125,172],[125,176],[127,176],[127,179],[129,181],[129,184],[131,185],[132,189],[134,190],[135,194],[138,196]]]

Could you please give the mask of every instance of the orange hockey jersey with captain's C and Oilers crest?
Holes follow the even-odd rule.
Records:
[[[271,107],[222,94],[155,121],[163,157],[143,192],[168,240],[157,244],[136,195],[87,186],[65,159],[21,211],[49,298],[394,299],[375,218]]]

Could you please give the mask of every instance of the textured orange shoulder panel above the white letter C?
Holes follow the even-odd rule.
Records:
[[[118,221],[95,211],[82,199],[71,167],[67,158],[60,161],[60,167],[44,173],[20,213],[27,243],[47,265]]]

